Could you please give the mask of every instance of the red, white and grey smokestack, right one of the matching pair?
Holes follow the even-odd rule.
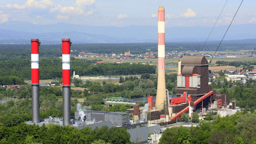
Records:
[[[70,39],[62,39],[63,125],[70,125]]]

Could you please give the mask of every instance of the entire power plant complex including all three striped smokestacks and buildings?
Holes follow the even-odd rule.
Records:
[[[54,123],[56,125],[83,127],[117,126],[126,129],[130,133],[130,141],[136,143],[147,143],[149,134],[148,120],[157,122],[169,122],[180,118],[183,112],[197,111],[203,113],[207,109],[226,109],[229,107],[229,94],[216,94],[208,85],[209,63],[205,56],[184,56],[178,62],[177,97],[169,98],[169,92],[165,84],[165,9],[158,8],[158,86],[156,102],[153,97],[148,96],[148,106],[141,108],[139,104],[130,103],[133,109],[127,111],[134,115],[134,120],[129,120],[129,113],[77,110],[75,118],[71,119],[70,104],[70,39],[62,39],[62,72],[63,72],[63,119],[49,117],[39,119],[39,53],[38,39],[31,39],[31,76],[32,76],[32,121],[27,124],[38,124],[39,126]],[[75,76],[75,73],[74,73]],[[127,103],[127,98],[110,98],[107,105]],[[155,103],[155,104],[154,104]],[[206,109],[207,108],[207,109]],[[233,102],[233,113],[236,104]],[[223,112],[224,113],[224,112]],[[160,125],[151,127],[153,133],[160,129]]]

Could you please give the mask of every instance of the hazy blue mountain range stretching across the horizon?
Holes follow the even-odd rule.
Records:
[[[256,24],[231,25],[224,40],[255,39]],[[222,40],[228,26],[216,26],[209,41]],[[166,27],[166,42],[206,41],[212,27]],[[60,44],[62,38],[74,43],[130,43],[158,42],[157,26],[130,25],[89,26],[60,22],[39,25],[30,22],[9,21],[0,24],[0,44],[29,44],[30,39],[40,39],[42,44]]]

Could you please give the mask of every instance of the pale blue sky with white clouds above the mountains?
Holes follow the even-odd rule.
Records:
[[[229,25],[242,0],[229,0],[218,25]],[[226,0],[1,0],[0,23],[25,21],[37,25],[157,26],[159,6],[165,26],[212,27]],[[256,0],[244,0],[233,25],[256,24]]]

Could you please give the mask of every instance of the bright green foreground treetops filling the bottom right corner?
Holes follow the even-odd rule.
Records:
[[[159,144],[256,144],[256,114],[238,112],[199,126],[167,128]]]

